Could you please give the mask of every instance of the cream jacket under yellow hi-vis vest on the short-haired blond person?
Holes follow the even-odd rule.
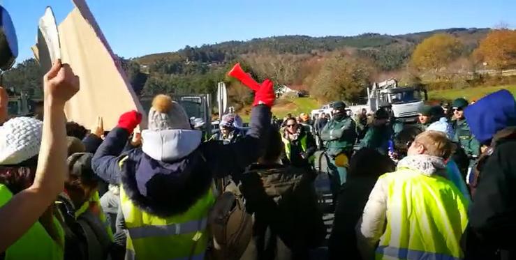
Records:
[[[408,156],[374,186],[357,224],[362,259],[460,259],[468,201],[441,158]],[[384,230],[385,227],[385,230]]]

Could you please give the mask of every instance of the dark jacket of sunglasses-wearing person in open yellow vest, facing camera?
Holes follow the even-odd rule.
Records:
[[[317,150],[316,140],[314,139],[314,136],[311,135],[309,132],[307,132],[306,128],[299,128],[299,136],[297,139],[290,141],[286,139],[286,130],[283,131],[283,144],[285,142],[288,142],[290,151],[287,151],[287,148],[285,148],[285,153],[289,153],[288,155],[285,154],[285,157],[283,158],[284,162],[288,162],[290,165],[293,165],[295,167],[310,167],[309,158],[311,158],[312,155]],[[306,138],[307,142],[307,150],[303,151],[301,140]],[[302,155],[304,158],[302,158]]]

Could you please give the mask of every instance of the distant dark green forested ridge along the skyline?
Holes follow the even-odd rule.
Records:
[[[331,52],[335,49],[355,48],[366,56],[382,59],[381,56],[398,54],[401,58],[410,56],[412,48],[423,39],[435,33],[450,33],[456,36],[468,49],[474,49],[478,40],[484,38],[488,28],[450,28],[408,33],[390,36],[378,33],[364,33],[359,36],[275,36],[269,38],[256,38],[248,41],[228,41],[200,47],[186,46],[177,52],[165,52],[149,54],[136,58],[135,61],[142,65],[151,65],[160,59],[177,59],[182,56],[189,61],[201,61],[206,63],[221,63],[232,61],[242,54],[316,54],[318,52]],[[385,64],[384,69],[395,69],[399,66]]]

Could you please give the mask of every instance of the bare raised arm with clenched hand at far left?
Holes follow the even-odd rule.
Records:
[[[31,187],[0,208],[0,252],[20,238],[64,188],[68,171],[64,103],[79,90],[79,78],[68,64],[57,61],[43,84],[45,114],[36,177]]]

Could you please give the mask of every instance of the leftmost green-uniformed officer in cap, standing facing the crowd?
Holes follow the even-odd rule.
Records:
[[[357,132],[355,121],[346,114],[344,102],[334,102],[332,108],[333,118],[321,130],[320,139],[323,140],[326,154],[330,158],[328,167],[332,170],[330,183],[335,198],[340,186],[346,183],[347,160],[353,153]]]

